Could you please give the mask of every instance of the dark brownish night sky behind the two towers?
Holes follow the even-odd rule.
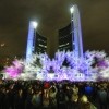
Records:
[[[70,7],[81,13],[84,51],[109,52],[109,0],[0,0],[0,57],[24,56],[28,22],[48,38],[48,53],[57,51],[58,29],[70,23]]]

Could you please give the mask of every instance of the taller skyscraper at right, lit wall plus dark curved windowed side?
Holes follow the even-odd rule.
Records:
[[[83,57],[81,20],[77,5],[71,8],[71,23],[59,29],[59,50],[73,50],[76,57]]]

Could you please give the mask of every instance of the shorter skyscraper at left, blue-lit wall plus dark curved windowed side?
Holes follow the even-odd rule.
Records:
[[[37,23],[29,22],[27,48],[26,48],[26,61],[29,61],[31,57],[35,52],[44,53],[47,49],[47,38],[39,35],[36,32]]]

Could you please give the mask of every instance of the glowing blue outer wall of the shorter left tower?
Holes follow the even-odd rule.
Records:
[[[36,27],[37,27],[37,22],[31,21],[28,28],[27,48],[26,48],[26,61],[31,59],[32,53],[35,51]]]

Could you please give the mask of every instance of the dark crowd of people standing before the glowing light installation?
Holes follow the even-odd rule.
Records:
[[[109,109],[108,82],[0,81],[0,109]]]

